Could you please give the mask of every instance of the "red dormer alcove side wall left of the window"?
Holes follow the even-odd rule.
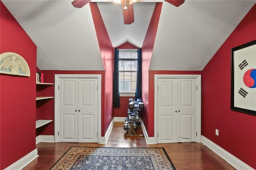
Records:
[[[105,111],[102,119],[102,127],[104,130],[101,131],[101,136],[104,136],[108,127],[113,119],[113,60],[114,60],[114,48],[108,36],[108,32],[102,20],[100,10],[96,2],[90,2],[90,8],[92,11],[92,19],[94,22],[94,27],[96,30],[96,35],[98,38],[98,43],[100,47],[100,53],[105,68],[105,81],[104,84],[104,96],[102,96],[102,101],[104,101],[104,107],[102,111]],[[103,103],[103,102],[102,102]],[[111,118],[109,119],[109,116]]]

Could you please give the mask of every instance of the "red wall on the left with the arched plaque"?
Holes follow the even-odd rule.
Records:
[[[30,68],[30,77],[0,75],[0,169],[4,169],[36,149],[36,45],[2,1],[0,20],[0,53],[18,53]]]

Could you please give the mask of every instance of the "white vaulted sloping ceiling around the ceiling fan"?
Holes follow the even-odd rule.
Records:
[[[156,1],[134,3],[130,25],[124,25],[120,4],[96,1],[113,47],[125,42],[141,47]],[[2,2],[37,45],[40,69],[104,70],[89,4]],[[256,0],[185,0],[179,7],[158,2],[163,5],[150,69],[202,70]]]

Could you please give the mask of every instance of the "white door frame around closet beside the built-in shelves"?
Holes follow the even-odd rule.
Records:
[[[101,75],[100,74],[56,74],[54,81],[54,142],[59,142],[59,90],[60,78],[97,78],[98,79],[98,143],[101,141]]]

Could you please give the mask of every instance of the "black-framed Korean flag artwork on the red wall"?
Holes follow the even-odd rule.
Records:
[[[231,49],[231,110],[256,116],[256,40]]]

